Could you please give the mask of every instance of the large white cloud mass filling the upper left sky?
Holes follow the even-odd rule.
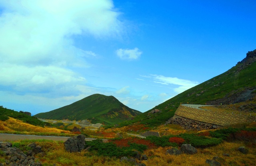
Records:
[[[86,79],[72,67],[90,67],[84,57],[96,53],[77,48],[74,36],[116,38],[124,29],[111,0],[7,0],[0,7],[0,86],[15,93],[77,95]]]

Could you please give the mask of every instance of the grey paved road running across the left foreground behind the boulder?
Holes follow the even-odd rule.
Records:
[[[15,140],[37,140],[37,139],[45,139],[45,140],[62,140],[66,141],[67,136],[37,136],[37,135],[19,135],[19,134],[0,134],[0,141],[15,141]],[[86,141],[95,140],[96,138],[85,138]],[[105,139],[103,139],[105,140]]]

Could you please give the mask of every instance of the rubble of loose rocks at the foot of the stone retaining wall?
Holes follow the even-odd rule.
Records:
[[[218,125],[199,122],[199,121],[182,118],[182,117],[177,117],[176,119],[171,118],[166,122],[166,124],[178,124],[178,125],[182,126],[182,128],[185,130],[198,130],[198,131],[208,130],[208,129],[216,129],[216,128],[220,127]]]

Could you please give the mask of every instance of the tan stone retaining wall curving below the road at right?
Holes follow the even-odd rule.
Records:
[[[175,115],[204,123],[216,124],[219,126],[248,123],[256,120],[256,116],[250,116],[243,113],[240,115],[223,111],[207,111],[182,105],[180,105],[180,107],[176,110]],[[175,115],[173,118],[176,117]]]

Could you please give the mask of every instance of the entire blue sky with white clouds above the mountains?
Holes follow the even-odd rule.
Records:
[[[254,0],[0,0],[0,105],[148,111],[256,49]]]

